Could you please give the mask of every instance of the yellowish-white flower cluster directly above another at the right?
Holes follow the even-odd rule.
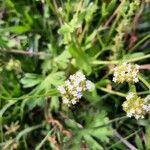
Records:
[[[137,83],[139,81],[137,77],[139,68],[139,65],[133,65],[129,63],[124,63],[120,66],[116,66],[114,68],[113,81],[116,83]]]

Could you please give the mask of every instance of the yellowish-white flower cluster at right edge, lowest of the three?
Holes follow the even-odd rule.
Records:
[[[150,112],[148,98],[142,99],[131,92],[127,95],[126,101],[122,104],[122,107],[128,117],[134,116],[136,119],[143,119],[146,113]]]

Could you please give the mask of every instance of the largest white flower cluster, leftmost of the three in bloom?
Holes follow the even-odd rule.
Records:
[[[65,81],[65,85],[58,87],[63,103],[68,106],[76,104],[82,97],[82,93],[91,89],[92,82],[86,80],[85,75],[80,71],[70,75],[69,79]]]

